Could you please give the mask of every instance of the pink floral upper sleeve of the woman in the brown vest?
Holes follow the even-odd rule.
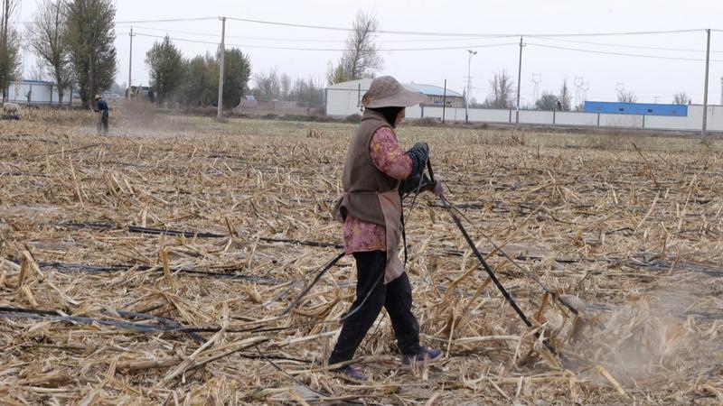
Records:
[[[397,135],[389,127],[381,127],[371,137],[371,161],[378,170],[397,180],[407,179],[412,172],[412,160],[397,143]]]

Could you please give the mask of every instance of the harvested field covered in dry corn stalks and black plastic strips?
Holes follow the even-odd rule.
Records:
[[[402,371],[382,314],[352,382],[325,364],[351,257],[280,315],[339,253],[314,243],[354,125],[133,116],[0,122],[3,404],[723,401],[719,141],[402,125],[534,328],[423,195],[408,272],[446,359]]]

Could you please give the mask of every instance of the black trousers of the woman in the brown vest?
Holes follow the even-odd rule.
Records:
[[[362,339],[379,316],[381,307],[387,309],[397,346],[403,355],[419,352],[419,324],[412,314],[412,289],[407,273],[384,284],[387,254],[383,251],[354,253],[357,268],[356,300],[344,319],[342,332],[333,347],[329,364],[348,361],[354,356]],[[371,292],[371,293],[370,293]],[[364,301],[364,298],[369,298]],[[363,302],[363,304],[362,304]],[[360,307],[361,306],[361,307]],[[354,311],[354,309],[358,310]]]

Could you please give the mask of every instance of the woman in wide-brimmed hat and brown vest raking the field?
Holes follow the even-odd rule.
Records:
[[[428,147],[416,143],[404,152],[394,128],[404,118],[407,106],[425,100],[390,76],[372,80],[362,97],[362,124],[347,152],[343,197],[334,206],[334,217],[343,221],[344,250],[356,260],[356,300],[343,321],[329,364],[352,359],[382,307],[390,315],[403,368],[425,358],[435,361],[442,357],[442,351],[419,345],[419,325],[411,311],[411,287],[399,261],[399,184],[407,180],[407,188],[416,189],[427,163]],[[409,188],[410,183],[413,188]],[[440,185],[435,185],[434,190],[441,194]],[[366,379],[352,365],[338,371],[354,379]]]

